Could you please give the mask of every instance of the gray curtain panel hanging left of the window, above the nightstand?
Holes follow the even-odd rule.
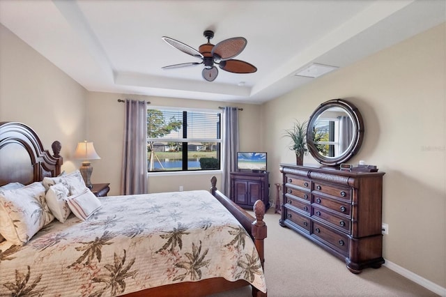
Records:
[[[147,192],[147,105],[125,100],[121,195]]]

